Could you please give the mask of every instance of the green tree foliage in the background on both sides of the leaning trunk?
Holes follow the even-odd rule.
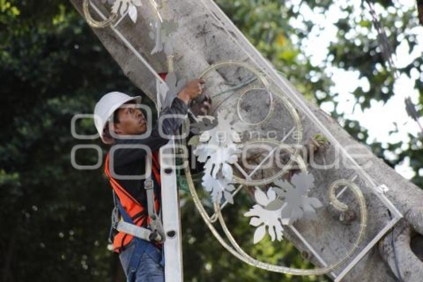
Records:
[[[382,21],[389,29],[393,49],[400,40],[407,40],[413,48],[416,38],[409,31],[418,25],[416,8],[404,10],[398,1],[391,0],[378,3],[386,12]],[[357,28],[374,32],[366,17],[355,20],[349,16],[367,13],[363,6],[344,5],[346,16],[337,23],[338,40],[330,43],[327,60],[314,65],[304,54],[301,40],[315,26],[301,15],[299,6],[308,5],[324,14],[332,1],[218,0],[218,4],[306,97],[319,105],[334,103],[332,117],[355,139],[369,144],[393,167],[409,158],[416,172],[411,180],[423,187],[420,140],[410,136],[408,143],[373,142],[358,122],[336,111],[338,94],[331,88],[330,74],[324,72],[329,65],[357,70],[368,79],[367,92],[360,87],[353,92],[362,108],[370,107],[371,100],[388,101],[394,95],[393,80],[383,68],[377,42],[362,34],[345,36]],[[294,28],[292,19],[300,20],[303,27]],[[423,70],[421,56],[400,72],[411,77],[410,72],[416,70]],[[70,159],[74,145],[100,142],[74,139],[70,124],[75,114],[92,113],[95,102],[106,92],[139,95],[140,91],[124,77],[83,18],[64,0],[0,0],[0,77],[1,280],[123,281],[117,256],[107,250],[112,198],[106,179],[101,169],[74,169]],[[420,112],[422,86],[420,75],[415,80],[421,94]],[[85,120],[77,130],[94,133],[93,125]],[[97,155],[80,151],[77,161],[93,164]],[[265,273],[240,263],[222,252],[186,194],[184,203],[186,281],[327,280]],[[229,222],[240,217],[236,210],[234,207],[228,213]],[[247,229],[247,222],[241,221],[233,232],[241,242],[248,243],[251,234]],[[278,249],[269,242],[260,247],[264,251],[251,247],[249,252],[274,263],[310,267],[289,243]]]

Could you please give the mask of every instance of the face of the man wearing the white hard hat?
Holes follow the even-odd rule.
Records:
[[[117,110],[118,123],[113,123],[113,130],[118,135],[140,135],[147,130],[144,114],[135,104],[124,104]]]

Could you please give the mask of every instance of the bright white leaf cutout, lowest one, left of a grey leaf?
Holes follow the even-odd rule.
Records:
[[[257,227],[254,232],[253,243],[257,244],[260,242],[267,232],[270,235],[270,239],[275,241],[281,241],[283,239],[283,227],[281,223],[281,209],[278,210],[267,210],[265,207],[276,199],[276,193],[273,188],[269,188],[267,193],[264,193],[259,188],[256,188],[254,193],[257,204],[254,205],[248,212],[244,213],[244,216],[251,217],[250,225]]]

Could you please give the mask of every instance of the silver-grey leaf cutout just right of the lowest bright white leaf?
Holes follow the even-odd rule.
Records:
[[[312,174],[300,172],[294,174],[291,183],[279,179],[273,187],[277,194],[275,201],[268,205],[268,209],[275,209],[281,205],[281,219],[288,224],[294,223],[302,217],[316,218],[316,209],[322,207],[320,200],[308,197],[308,191],[314,187],[315,178]]]

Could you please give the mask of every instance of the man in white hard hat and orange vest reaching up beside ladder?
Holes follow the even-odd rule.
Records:
[[[202,93],[203,84],[203,80],[189,81],[161,115],[185,116],[190,101]],[[192,111],[207,112],[209,102],[206,98]],[[158,150],[176,133],[183,120],[170,116],[153,127],[148,136],[143,136],[148,132],[147,122],[139,104],[139,96],[111,92],[94,109],[101,140],[111,145],[105,162],[115,204],[110,240],[114,252],[119,254],[127,282],[163,282],[165,234],[159,215]]]

